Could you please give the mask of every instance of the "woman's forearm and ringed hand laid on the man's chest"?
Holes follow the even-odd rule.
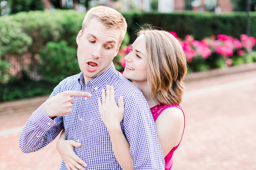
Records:
[[[132,156],[130,145],[126,140],[120,122],[124,118],[124,100],[119,98],[119,106],[116,104],[114,87],[107,85],[106,93],[102,90],[102,101],[98,98],[100,116],[108,129],[112,149],[116,160],[123,170],[132,170]]]

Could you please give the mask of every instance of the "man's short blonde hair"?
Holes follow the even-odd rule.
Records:
[[[97,18],[108,28],[120,29],[119,43],[122,43],[124,35],[126,33],[127,23],[124,16],[122,16],[120,12],[106,6],[93,7],[87,12],[86,16],[84,17],[82,31],[84,31],[84,28],[87,26],[92,18]]]

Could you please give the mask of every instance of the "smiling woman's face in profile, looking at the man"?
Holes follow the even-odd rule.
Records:
[[[148,52],[146,49],[146,38],[140,35],[132,44],[132,49],[124,57],[126,66],[123,75],[136,84],[147,81]]]

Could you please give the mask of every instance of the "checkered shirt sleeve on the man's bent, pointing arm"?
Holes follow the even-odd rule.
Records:
[[[49,99],[59,93],[59,86],[54,88]],[[22,129],[20,149],[24,153],[42,149],[53,141],[62,129],[64,129],[63,117],[51,119],[44,111],[44,104],[42,104],[34,111]]]

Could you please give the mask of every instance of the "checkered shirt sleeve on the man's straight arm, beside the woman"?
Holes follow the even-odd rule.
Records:
[[[124,133],[130,144],[134,170],[164,170],[156,126],[143,94],[134,94],[125,102]]]

